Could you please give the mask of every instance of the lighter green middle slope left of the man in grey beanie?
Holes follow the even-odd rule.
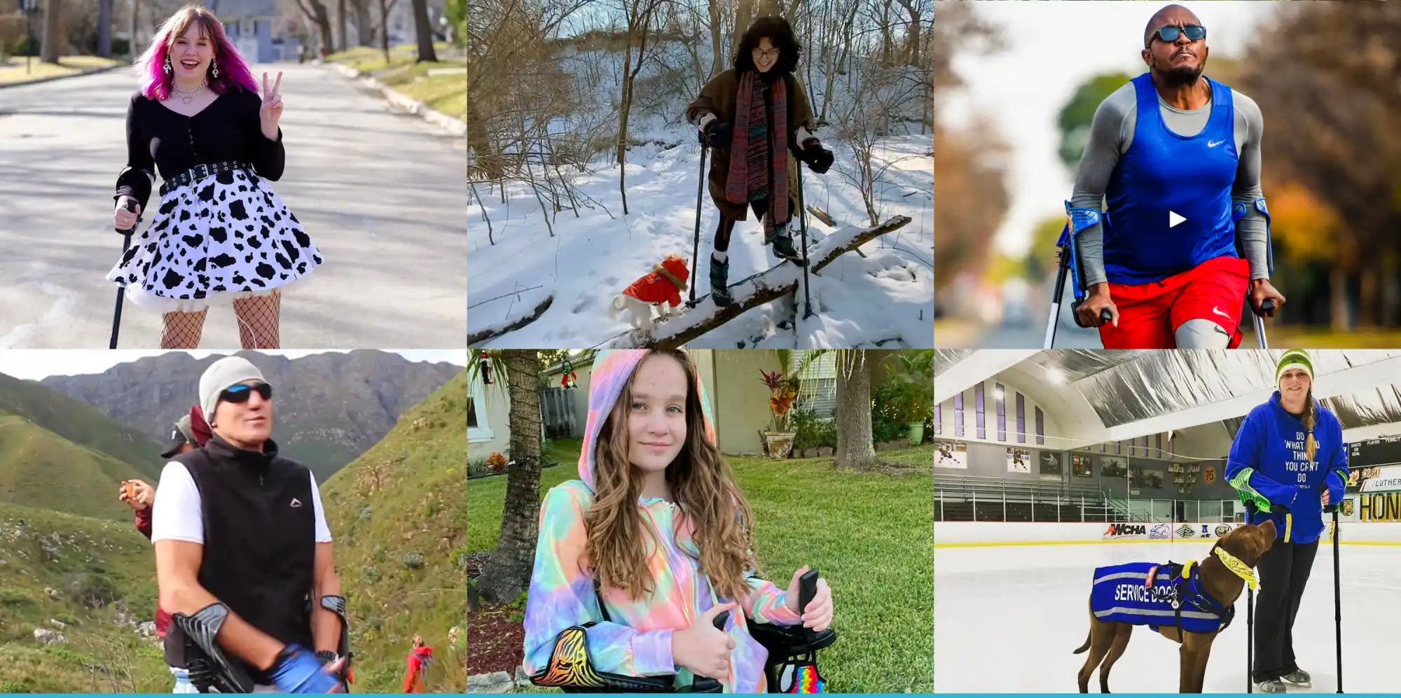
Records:
[[[27,418],[0,413],[0,502],[130,520],[130,509],[118,502],[116,489],[123,479],[136,477],[147,475]]]

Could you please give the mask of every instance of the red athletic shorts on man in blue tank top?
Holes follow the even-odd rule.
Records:
[[[1100,327],[1105,349],[1175,349],[1173,332],[1188,320],[1210,320],[1240,346],[1240,315],[1250,286],[1250,262],[1234,256],[1208,259],[1160,282],[1110,283],[1119,327]]]

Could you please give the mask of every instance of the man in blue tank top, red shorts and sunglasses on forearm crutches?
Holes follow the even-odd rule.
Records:
[[[1087,292],[1076,320],[1105,349],[1236,348],[1243,297],[1262,317],[1285,303],[1269,282],[1264,118],[1202,76],[1206,56],[1206,27],[1167,6],[1143,32],[1147,71],[1094,112],[1066,209]]]

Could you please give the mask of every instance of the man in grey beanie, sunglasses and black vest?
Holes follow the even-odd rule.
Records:
[[[227,356],[200,376],[199,404],[213,436],[165,464],[153,514],[167,656],[200,692],[346,691],[331,531],[315,477],[277,454],[272,385]]]

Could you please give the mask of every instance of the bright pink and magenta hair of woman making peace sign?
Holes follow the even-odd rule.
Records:
[[[224,35],[224,25],[214,17],[214,13],[198,4],[188,4],[172,14],[161,28],[151,36],[146,50],[133,62],[136,76],[142,81],[142,94],[150,100],[164,101],[171,95],[174,73],[165,73],[165,57],[170,56],[175,39],[184,36],[191,25],[199,27],[200,36],[205,36],[214,46],[214,64],[219,66],[219,77],[206,73],[205,80],[214,93],[233,93],[238,88],[258,94],[258,83],[248,70],[248,63],[238,55],[238,49]]]

